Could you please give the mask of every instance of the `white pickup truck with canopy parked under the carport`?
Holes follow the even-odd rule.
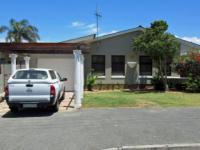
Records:
[[[12,112],[38,107],[58,111],[60,100],[65,98],[66,80],[50,69],[17,70],[5,88],[6,102]]]

